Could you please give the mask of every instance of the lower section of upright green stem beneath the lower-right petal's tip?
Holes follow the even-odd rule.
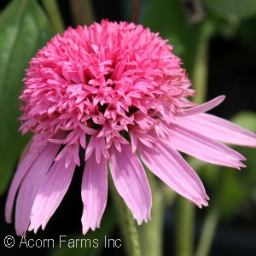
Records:
[[[179,197],[177,213],[176,256],[190,256],[194,250],[195,206]]]

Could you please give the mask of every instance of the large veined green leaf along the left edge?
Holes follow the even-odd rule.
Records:
[[[17,131],[25,69],[51,36],[49,21],[35,0],[15,0],[0,16],[0,194],[29,138]]]

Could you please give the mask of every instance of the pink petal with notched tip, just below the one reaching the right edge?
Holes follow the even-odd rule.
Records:
[[[213,141],[195,131],[190,131],[181,125],[172,124],[168,128],[171,135],[168,142],[172,148],[215,165],[237,169],[240,169],[239,166],[244,167],[240,160],[245,160],[245,158],[224,144]]]

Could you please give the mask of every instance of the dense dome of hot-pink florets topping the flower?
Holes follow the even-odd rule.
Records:
[[[159,118],[168,123],[192,105],[183,98],[194,91],[180,65],[172,46],[143,26],[105,20],[69,28],[26,70],[21,130],[67,145],[59,158],[70,148],[86,148],[84,134],[119,148],[127,143],[122,132],[144,137]]]

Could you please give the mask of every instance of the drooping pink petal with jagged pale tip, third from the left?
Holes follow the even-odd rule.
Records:
[[[32,206],[31,224],[28,230],[34,230],[36,233],[41,225],[44,230],[49,218],[60,205],[67,192],[74,169],[75,163],[73,160],[71,160],[67,169],[65,168],[65,158],[55,161],[47,176],[44,177],[44,181],[35,198]]]

